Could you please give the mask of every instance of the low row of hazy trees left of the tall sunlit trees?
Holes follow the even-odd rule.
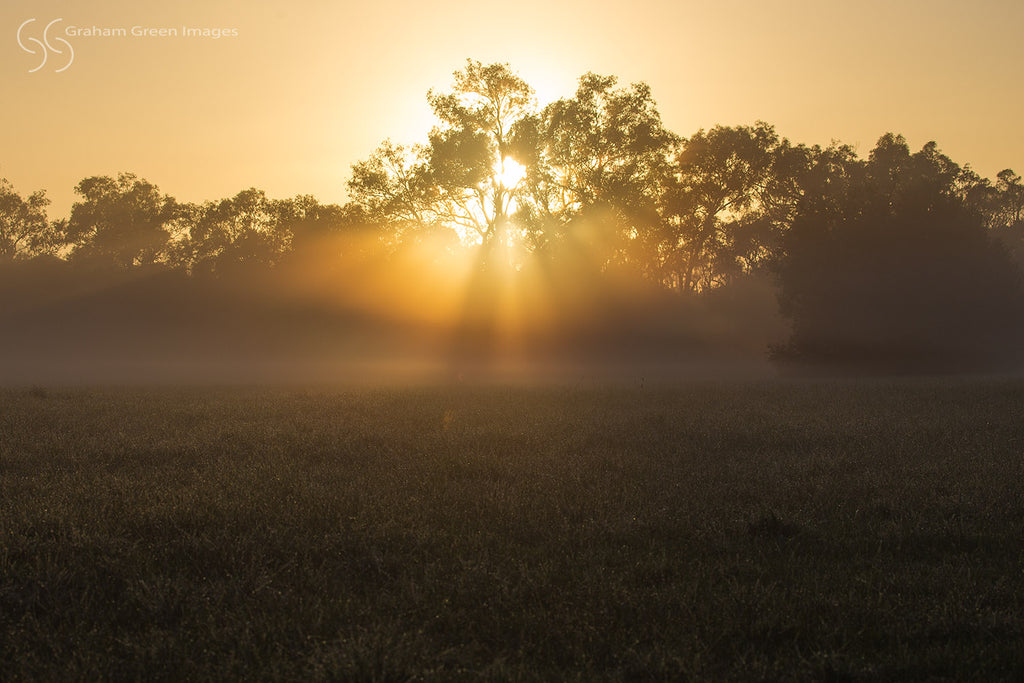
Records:
[[[350,207],[310,196],[272,200],[255,188],[217,202],[180,203],[130,173],[85,178],[75,191],[80,199],[71,216],[47,220],[43,191],[23,199],[0,180],[0,255],[212,274],[271,267],[305,241],[356,224]]]

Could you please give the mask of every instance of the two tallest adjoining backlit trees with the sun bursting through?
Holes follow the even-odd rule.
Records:
[[[587,74],[573,97],[541,111],[508,65],[468,60],[451,92],[431,91],[427,144],[385,141],[353,167],[349,190],[396,238],[449,228],[484,246],[539,251],[567,242],[626,243],[657,222],[679,138],[650,88]],[[609,234],[610,232],[610,234]]]

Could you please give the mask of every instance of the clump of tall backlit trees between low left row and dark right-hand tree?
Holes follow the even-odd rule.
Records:
[[[438,121],[428,142],[385,141],[353,167],[349,190],[395,241],[454,230],[490,247],[485,259],[573,253],[709,289],[771,251],[795,201],[779,179],[807,165],[807,151],[766,124],[684,140],[663,125],[649,86],[610,76],[586,74],[571,97],[538,111],[508,65],[468,60],[452,91],[428,100]]]

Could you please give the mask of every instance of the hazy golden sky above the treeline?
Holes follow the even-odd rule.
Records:
[[[18,45],[33,17],[36,54]],[[29,73],[57,18],[62,52]],[[893,131],[994,177],[1024,172],[1022,26],[1021,0],[4,0],[0,176],[45,188],[54,217],[81,178],[119,171],[181,201],[256,186],[343,202],[352,163],[424,139],[427,90],[472,57],[509,62],[542,103],[588,71],[646,81],[684,136],[761,119],[866,155]],[[55,38],[74,49],[60,73]]]

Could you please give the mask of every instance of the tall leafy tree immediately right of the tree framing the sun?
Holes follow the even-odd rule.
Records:
[[[586,74],[572,97],[520,124],[516,154],[529,172],[516,219],[537,249],[584,248],[643,266],[679,138],[649,86],[616,83]]]

